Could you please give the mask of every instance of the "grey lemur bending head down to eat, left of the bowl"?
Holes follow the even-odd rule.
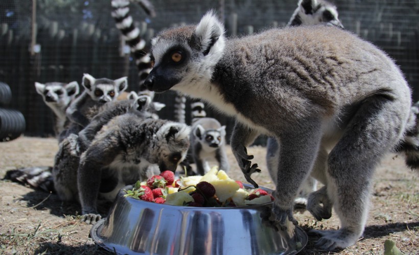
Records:
[[[187,154],[189,133],[190,127],[185,124],[142,120],[130,113],[109,121],[80,158],[82,220],[94,223],[100,219],[96,209],[99,193],[114,199],[122,187],[150,177],[147,174],[153,165],[160,171],[174,172]]]

